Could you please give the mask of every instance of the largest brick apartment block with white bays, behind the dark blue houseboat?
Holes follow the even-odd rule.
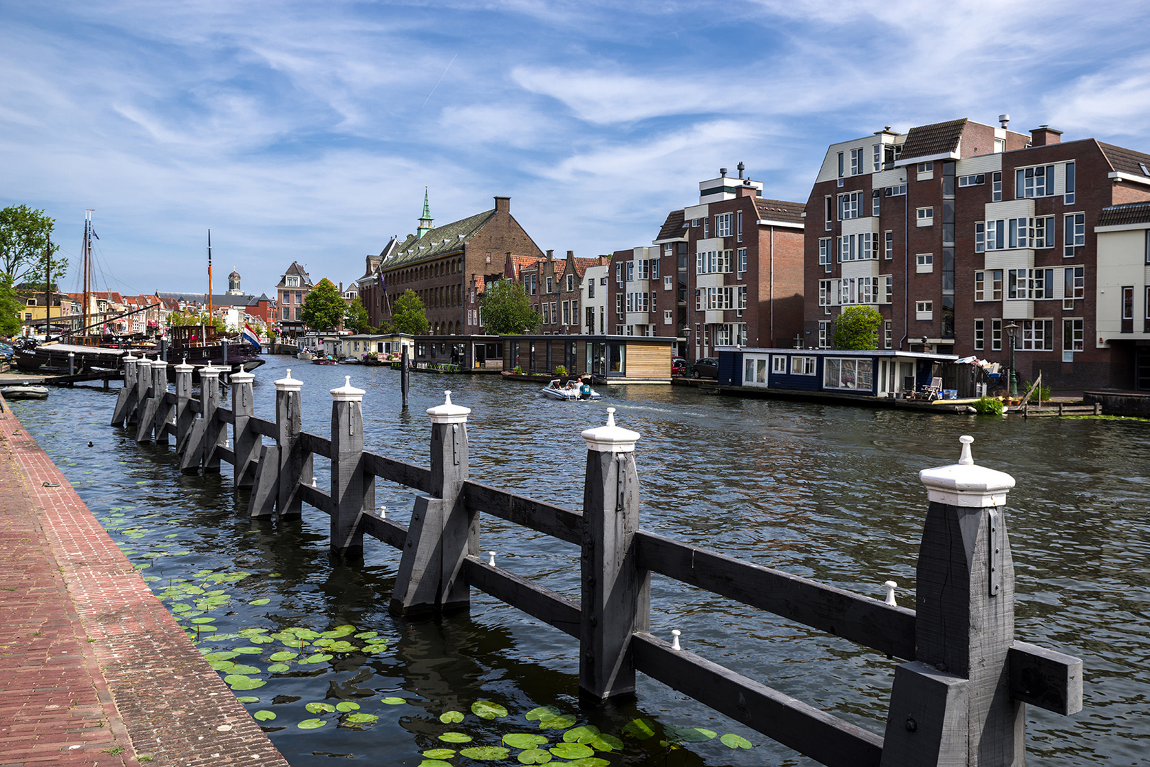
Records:
[[[867,304],[880,348],[1009,362],[1013,331],[1023,379],[1134,385],[1134,335],[1099,332],[1124,299],[1101,292],[1096,228],[1105,209],[1150,200],[1150,155],[1007,121],[829,147],[806,208],[808,345],[829,346],[842,307]]]

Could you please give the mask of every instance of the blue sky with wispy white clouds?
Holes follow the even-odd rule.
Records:
[[[0,0],[0,206],[78,286],[350,283],[511,197],[543,248],[650,245],[738,162],[805,201],[827,146],[968,117],[1150,151],[1150,3]]]

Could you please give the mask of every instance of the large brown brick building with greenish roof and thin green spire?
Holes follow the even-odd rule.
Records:
[[[432,335],[482,332],[478,296],[488,282],[504,276],[507,254],[543,256],[511,215],[511,198],[494,201],[491,210],[435,227],[424,194],[416,233],[379,263],[386,291],[379,312],[383,320],[391,317],[396,299],[411,289],[423,301]]]

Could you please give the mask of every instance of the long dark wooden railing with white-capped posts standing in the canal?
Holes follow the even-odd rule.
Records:
[[[1023,765],[1027,704],[1060,714],[1082,708],[1082,661],[1014,638],[1004,516],[1014,480],[976,466],[971,437],[960,438],[957,463],[920,473],[928,507],[918,609],[908,609],[641,529],[639,435],[616,425],[613,408],[605,425],[583,432],[586,470],[577,512],[473,481],[470,411],[452,404],[450,392],[428,409],[430,465],[422,467],[363,450],[363,391],[350,377],[330,391],[331,435],[321,437],[301,429],[302,383],[291,370],[275,382],[275,421],[267,421],[254,413],[251,374],[231,376],[228,409],[220,406],[221,369],[200,369],[200,397],[193,398],[191,366],[176,366],[175,391],[168,391],[164,362],[124,362],[113,425],[135,425],[137,442],[170,444],[175,437],[184,471],[231,463],[235,486],[251,489],[253,517],[298,517],[304,504],[327,513],[334,557],[361,554],[365,537],[398,549],[390,598],[396,614],[467,608],[474,588],[570,635],[578,642],[580,691],[592,701],[634,695],[636,672],[643,672],[842,767]],[[331,462],[327,491],[314,486],[316,455]],[[375,511],[377,477],[425,493],[408,527]],[[581,546],[580,600],[483,559],[482,514]],[[905,661],[895,669],[883,735],[682,650],[677,636],[668,643],[651,635],[656,575]]]

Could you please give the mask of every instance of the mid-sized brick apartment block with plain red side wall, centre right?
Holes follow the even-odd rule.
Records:
[[[672,210],[653,245],[615,251],[607,328],[674,336],[689,359],[716,346],[775,346],[803,324],[803,205],[720,169],[698,205]]]

